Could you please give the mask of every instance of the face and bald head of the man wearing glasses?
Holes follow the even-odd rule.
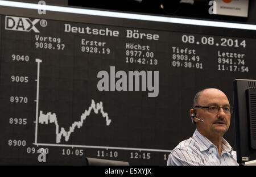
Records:
[[[229,100],[224,92],[215,88],[209,88],[201,93],[198,106],[230,106]],[[223,136],[229,129],[230,113],[225,113],[222,108],[218,113],[210,113],[207,108],[196,108],[196,116],[203,119],[203,123],[197,124],[199,132],[205,136]]]

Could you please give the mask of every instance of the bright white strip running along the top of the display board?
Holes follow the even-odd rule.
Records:
[[[67,12],[67,13],[73,13],[73,14],[108,16],[108,17],[124,18],[124,19],[147,20],[147,21],[153,21],[153,22],[166,22],[166,23],[190,24],[190,25],[197,25],[197,26],[256,30],[256,25],[254,24],[214,22],[214,21],[208,21],[208,20],[193,20],[193,19],[171,18],[171,17],[154,16],[154,15],[129,14],[129,13],[123,13],[123,12],[110,12],[110,11],[101,11],[101,10],[79,9],[79,8],[73,8],[73,7],[38,5],[34,3],[24,3],[24,2],[14,2],[14,1],[0,0],[0,6]]]

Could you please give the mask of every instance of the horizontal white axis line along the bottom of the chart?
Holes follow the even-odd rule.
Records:
[[[44,144],[34,143],[36,146],[56,146],[56,147],[83,147],[83,148],[96,148],[96,149],[118,149],[118,150],[139,150],[139,151],[156,151],[156,152],[168,152],[171,150],[166,149],[147,149],[147,148],[133,148],[133,147],[112,147],[112,146],[85,146],[85,145],[65,145],[65,144]]]

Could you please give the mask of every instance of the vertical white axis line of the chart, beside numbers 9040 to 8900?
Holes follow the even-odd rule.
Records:
[[[42,60],[36,58],[38,63],[38,74],[36,78],[36,121],[35,121],[35,144],[38,143],[38,107],[39,107],[39,74],[40,74],[40,62]]]

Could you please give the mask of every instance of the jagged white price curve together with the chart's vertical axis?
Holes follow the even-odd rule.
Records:
[[[105,118],[106,120],[106,125],[109,126],[111,123],[111,119],[109,119],[108,113],[104,112],[103,110],[103,104],[102,102],[100,103],[95,103],[94,100],[92,99],[92,103],[90,104],[90,107],[85,110],[84,113],[82,113],[80,117],[80,121],[75,121],[72,123],[72,125],[69,127],[69,130],[65,130],[63,127],[60,128],[58,121],[57,121],[57,116],[55,113],[48,112],[46,114],[43,113],[43,111],[40,111],[40,114],[38,116],[39,112],[39,79],[40,79],[40,63],[42,60],[39,60],[38,58],[36,59],[36,62],[38,63],[38,71],[37,71],[37,79],[35,80],[37,85],[36,85],[36,121],[35,121],[35,144],[38,143],[38,124],[48,124],[48,123],[54,123],[56,126],[56,143],[59,144],[61,141],[61,137],[63,136],[65,138],[65,141],[69,140],[69,137],[71,136],[71,133],[75,131],[75,128],[81,128],[82,125],[84,124],[85,119],[90,115],[92,109],[94,113],[98,114],[99,111],[102,115],[102,117]]]

